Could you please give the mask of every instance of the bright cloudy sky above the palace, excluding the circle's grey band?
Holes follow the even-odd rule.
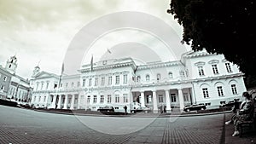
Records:
[[[177,20],[173,20],[172,14],[166,13],[169,4],[170,0],[0,0],[0,65],[5,66],[6,60],[11,55],[16,55],[17,74],[21,77],[30,78],[38,63],[41,70],[60,74],[61,64],[67,60],[67,51],[75,41],[74,37],[83,31],[84,27],[89,27],[91,23],[100,21],[106,15],[111,18],[111,15],[124,11],[148,14],[145,21],[159,19],[158,21],[172,28],[173,37],[178,37],[180,41],[183,29],[177,24]],[[133,23],[141,19],[134,15],[136,14],[131,14],[129,18]],[[154,18],[151,19],[150,15]],[[113,23],[119,23],[118,19],[108,21],[107,24],[102,23],[101,26],[113,26]],[[143,25],[148,26],[149,23],[152,24],[152,21]],[[156,24],[155,29],[165,32],[161,27],[157,27],[159,25]],[[101,28],[92,26],[90,29],[99,32]],[[83,60],[79,65],[90,63],[92,55],[94,61],[122,56],[134,57],[142,63],[154,61],[147,59],[147,53],[144,53],[147,51],[150,51],[148,55],[158,55],[155,60],[173,60],[175,56],[170,56],[172,48],[168,48],[168,43],[176,43],[177,47],[183,46],[178,45],[176,40],[172,42],[173,38],[167,42],[166,37],[158,37],[158,34],[155,34],[157,32],[148,32],[148,29],[143,31],[141,27],[116,27],[101,35],[91,33],[90,37],[93,36],[94,40],[89,47],[84,48],[86,50],[83,50]],[[185,47],[189,49],[189,46]],[[73,55],[74,59],[75,57]],[[68,57],[68,60],[72,61],[73,58]]]

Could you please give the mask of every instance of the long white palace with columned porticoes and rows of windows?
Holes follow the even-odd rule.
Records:
[[[224,55],[205,50],[189,51],[181,60],[137,65],[132,58],[101,60],[81,66],[77,75],[32,75],[32,104],[35,107],[97,111],[114,107],[115,112],[148,108],[166,112],[172,108],[204,103],[207,107],[241,98],[246,87],[243,73]]]

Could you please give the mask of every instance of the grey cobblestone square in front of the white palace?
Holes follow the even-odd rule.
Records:
[[[134,129],[136,127],[140,128]],[[113,134],[119,130],[120,134],[126,133]],[[1,144],[216,144],[224,143],[223,130],[224,114],[148,119],[102,118],[35,112],[0,105]]]

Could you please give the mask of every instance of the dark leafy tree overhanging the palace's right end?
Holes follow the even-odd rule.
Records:
[[[167,13],[183,26],[183,43],[223,54],[246,77],[256,78],[254,5],[253,0],[172,0]]]

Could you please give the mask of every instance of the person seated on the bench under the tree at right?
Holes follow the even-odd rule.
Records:
[[[235,131],[232,136],[239,135],[238,127],[242,121],[251,120],[253,118],[254,107],[252,95],[249,95],[248,92],[243,92],[242,96],[245,97],[246,100],[241,104],[241,109],[236,114],[237,117],[234,120]]]

